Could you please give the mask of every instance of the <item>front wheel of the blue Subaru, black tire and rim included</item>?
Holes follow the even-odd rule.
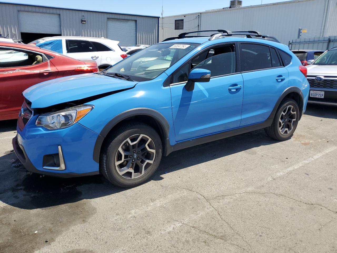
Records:
[[[122,125],[105,142],[100,171],[112,184],[135,187],[157,170],[162,156],[158,133],[142,122]]]

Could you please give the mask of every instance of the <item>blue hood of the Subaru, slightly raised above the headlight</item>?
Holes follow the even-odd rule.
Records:
[[[82,74],[49,80],[33,85],[23,92],[32,108],[44,108],[103,93],[132,88],[130,82],[98,74]]]

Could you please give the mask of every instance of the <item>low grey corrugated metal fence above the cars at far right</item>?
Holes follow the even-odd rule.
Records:
[[[337,36],[294,39],[289,46],[290,50],[313,49],[323,51],[333,47],[337,47]]]

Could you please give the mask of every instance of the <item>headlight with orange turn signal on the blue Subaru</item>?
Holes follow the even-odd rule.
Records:
[[[58,112],[41,114],[35,124],[50,130],[67,128],[87,115],[93,108],[92,105],[80,105]]]

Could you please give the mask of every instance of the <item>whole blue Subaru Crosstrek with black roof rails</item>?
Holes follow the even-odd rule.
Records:
[[[300,60],[256,31],[190,34],[25,90],[12,142],[26,169],[133,187],[182,148],[257,129],[289,139],[309,93]]]

